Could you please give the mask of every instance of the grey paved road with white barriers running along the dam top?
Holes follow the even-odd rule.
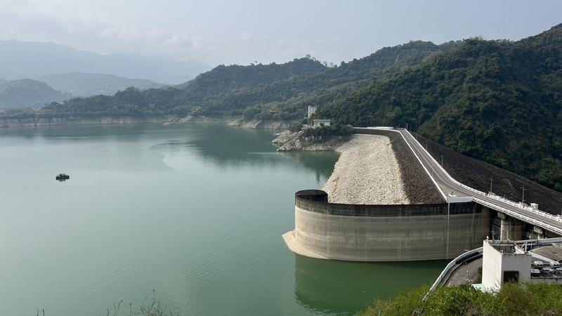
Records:
[[[381,128],[380,130],[388,131],[389,129]],[[396,131],[403,136],[407,145],[409,145],[414,154],[416,154],[421,165],[426,169],[426,172],[429,173],[447,202],[462,202],[472,198],[474,202],[488,206],[490,209],[495,209],[496,211],[523,220],[526,223],[537,225],[543,229],[562,235],[562,221],[560,218],[556,218],[556,216],[552,216],[548,213],[530,211],[521,206],[514,205],[516,204],[515,202],[503,202],[483,192],[467,188],[452,178],[409,131],[405,129],[391,129],[391,131]]]

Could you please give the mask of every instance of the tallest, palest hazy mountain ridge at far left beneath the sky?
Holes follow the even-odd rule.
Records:
[[[60,44],[0,40],[0,78],[10,80],[85,72],[180,84],[207,70],[209,67],[200,62],[164,55],[101,55]]]

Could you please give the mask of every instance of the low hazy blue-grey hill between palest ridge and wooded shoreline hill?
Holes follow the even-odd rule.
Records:
[[[117,91],[125,90],[130,86],[146,90],[148,88],[162,88],[164,84],[146,79],[128,79],[112,74],[85,74],[83,72],[70,72],[67,74],[49,74],[41,77],[49,86],[63,93],[73,96],[95,96],[103,94],[112,96]]]

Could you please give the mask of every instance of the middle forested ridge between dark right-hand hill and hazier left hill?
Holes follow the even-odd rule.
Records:
[[[454,45],[454,42],[436,45],[428,41],[410,41],[382,48],[365,58],[341,62],[338,67],[329,67],[312,76],[292,77],[267,86],[232,93],[215,107],[247,108],[247,119],[298,119],[306,113],[307,105],[329,103],[372,81],[417,65],[433,53],[448,51]],[[269,117],[271,105],[280,105],[275,109],[280,110],[275,117]]]

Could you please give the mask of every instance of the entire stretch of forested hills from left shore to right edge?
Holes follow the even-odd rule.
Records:
[[[414,129],[457,152],[562,191],[562,25],[520,41],[424,41],[327,65],[310,56],[220,65],[175,87],[73,98],[12,115],[164,114]]]

